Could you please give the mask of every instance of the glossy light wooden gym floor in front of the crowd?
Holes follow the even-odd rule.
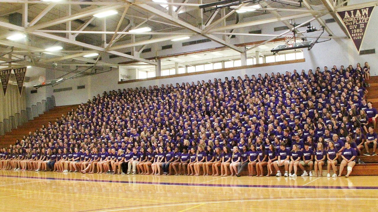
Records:
[[[1,212],[376,211],[376,176],[193,177],[0,171]]]

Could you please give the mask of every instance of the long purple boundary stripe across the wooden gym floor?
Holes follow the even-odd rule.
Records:
[[[293,188],[293,189],[369,189],[378,190],[377,186],[285,186],[285,185],[246,185],[246,184],[199,184],[199,183],[161,183],[143,181],[121,181],[121,180],[88,180],[88,179],[66,179],[54,177],[26,177],[14,175],[0,175],[0,177],[27,178],[39,180],[66,180],[102,183],[125,183],[125,184],[149,184],[149,185],[172,185],[172,186],[211,186],[211,187],[246,187],[246,188]]]

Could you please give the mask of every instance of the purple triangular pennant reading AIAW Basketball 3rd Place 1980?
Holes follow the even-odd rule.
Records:
[[[344,22],[345,27],[348,29],[349,36],[352,38],[358,52],[364,40],[365,31],[374,7],[375,6],[337,12],[342,22]]]

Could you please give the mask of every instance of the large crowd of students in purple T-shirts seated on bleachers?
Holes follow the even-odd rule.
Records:
[[[375,155],[370,67],[104,92],[0,149],[0,169],[144,175],[327,176]],[[151,172],[150,172],[151,170]]]

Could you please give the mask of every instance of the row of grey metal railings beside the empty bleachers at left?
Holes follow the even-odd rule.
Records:
[[[5,135],[6,132],[10,132],[12,129],[16,129],[23,123],[33,120],[34,117],[38,117],[46,111],[50,111],[55,107],[55,97],[47,97],[46,100],[42,102],[37,102],[33,104],[31,108],[26,108],[22,110],[21,113],[16,113],[14,116],[11,115],[9,118],[5,118],[3,122],[0,122],[0,135]]]

